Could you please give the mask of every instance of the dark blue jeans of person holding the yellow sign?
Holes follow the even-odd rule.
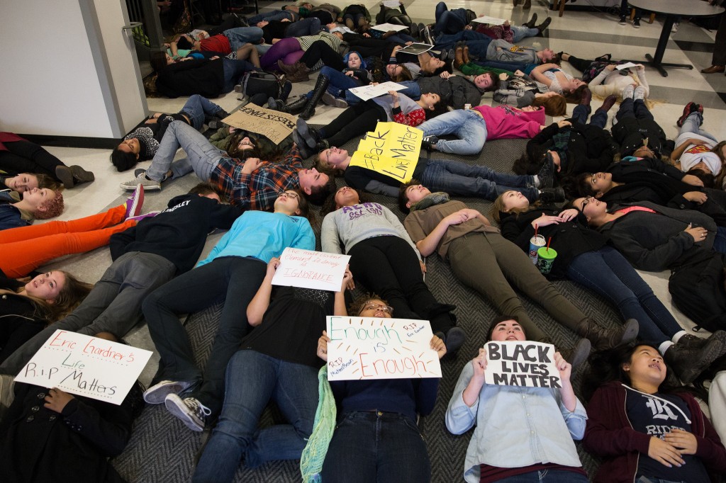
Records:
[[[420,181],[431,191],[446,191],[490,201],[510,190],[521,192],[530,202],[539,198],[539,191],[529,187],[534,186],[533,176],[497,173],[486,166],[468,165],[454,160],[429,160]]]

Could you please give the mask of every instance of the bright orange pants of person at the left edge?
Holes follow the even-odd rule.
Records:
[[[126,204],[78,220],[1,230],[0,270],[10,278],[23,277],[54,258],[103,247],[111,235],[136,226],[136,220],[125,217]]]

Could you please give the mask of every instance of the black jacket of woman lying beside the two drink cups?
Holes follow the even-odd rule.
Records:
[[[525,252],[529,252],[529,239],[534,236],[532,221],[542,214],[557,216],[560,212],[562,210],[552,206],[535,208],[519,215],[499,212],[502,220],[499,227],[502,230],[502,236],[513,241]],[[587,228],[587,220],[582,213],[567,223],[538,227],[537,234],[544,236],[545,240],[551,236],[550,247],[557,250],[557,258],[552,264],[550,278],[565,277],[567,268],[574,257],[584,252],[600,249],[608,242],[605,236]]]

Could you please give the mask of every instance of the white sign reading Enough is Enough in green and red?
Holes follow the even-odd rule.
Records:
[[[327,318],[327,379],[441,377],[431,324],[404,318]]]

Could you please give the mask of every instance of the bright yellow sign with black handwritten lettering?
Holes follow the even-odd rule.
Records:
[[[378,123],[351,156],[349,165],[360,166],[408,183],[418,164],[423,131],[399,123]]]

